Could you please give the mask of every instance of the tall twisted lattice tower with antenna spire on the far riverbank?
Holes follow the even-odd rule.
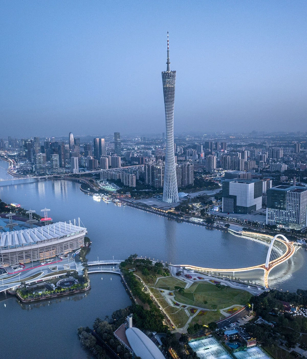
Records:
[[[167,31],[166,71],[162,72],[165,122],[166,122],[166,155],[164,170],[163,202],[179,202],[174,152],[174,100],[176,71],[170,71],[169,42]]]

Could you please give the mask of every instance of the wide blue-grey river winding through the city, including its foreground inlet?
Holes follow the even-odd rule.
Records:
[[[8,164],[1,161],[0,166],[0,178],[9,178],[5,171]],[[238,268],[264,263],[268,251],[264,244],[223,230],[178,223],[129,206],[95,202],[92,196],[80,191],[79,184],[70,181],[18,185],[12,182],[12,185],[0,187],[0,198],[34,209],[39,214],[41,209],[50,208],[53,222],[80,217],[93,241],[87,256],[90,261],[112,259],[113,256],[124,259],[137,253],[173,264]],[[306,289],[306,260],[307,252],[300,248],[289,262],[272,271],[271,287],[290,291]],[[239,274],[257,283],[262,283],[262,275],[261,270]],[[6,323],[0,359],[86,357],[78,342],[77,328],[91,326],[97,316],[104,318],[130,303],[119,276],[113,275],[111,281],[108,274],[91,274],[91,283],[92,289],[86,296],[74,295],[50,303],[24,306],[14,297],[0,296],[0,315]],[[29,355],[25,356],[25,352]]]

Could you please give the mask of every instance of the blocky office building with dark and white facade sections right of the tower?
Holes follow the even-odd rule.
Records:
[[[262,181],[247,179],[225,180],[222,189],[222,211],[250,213],[261,208]]]

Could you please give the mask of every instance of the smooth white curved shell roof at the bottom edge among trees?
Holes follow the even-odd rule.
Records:
[[[128,328],[126,337],[131,349],[142,359],[164,359],[162,352],[147,335],[138,328]]]

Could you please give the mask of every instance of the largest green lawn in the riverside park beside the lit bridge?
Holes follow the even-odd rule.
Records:
[[[190,288],[185,289],[185,293],[175,292],[174,300],[196,307],[211,309],[212,305],[216,305],[217,309],[222,309],[234,304],[246,305],[252,296],[245,290],[223,288],[218,289],[214,284],[208,282],[193,283]],[[208,303],[205,304],[204,301]]]

